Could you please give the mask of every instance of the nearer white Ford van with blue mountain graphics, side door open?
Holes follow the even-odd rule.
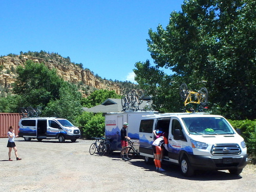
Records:
[[[164,161],[179,164],[184,176],[195,170],[228,170],[240,174],[248,161],[244,139],[220,115],[165,113],[146,115],[139,130],[140,155],[153,161],[153,130],[162,130],[168,139]]]

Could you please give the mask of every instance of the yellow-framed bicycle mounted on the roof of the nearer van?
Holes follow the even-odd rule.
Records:
[[[197,111],[202,111],[203,107],[208,103],[208,91],[205,87],[202,87],[199,91],[191,91],[187,89],[185,83],[182,83],[180,86],[180,97],[184,101],[185,109],[188,104],[197,104]],[[195,110],[193,107],[190,107],[187,112],[195,112]]]

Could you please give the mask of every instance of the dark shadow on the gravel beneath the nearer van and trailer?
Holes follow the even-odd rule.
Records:
[[[120,160],[123,161],[120,157],[120,152],[114,152],[110,158],[113,161]],[[134,159],[127,161],[132,165],[141,167],[146,172],[155,172],[155,165],[154,164],[146,164],[143,159],[139,157],[135,157]],[[186,179],[186,180],[195,180],[195,181],[219,181],[219,180],[237,180],[242,179],[240,175],[232,175],[230,173],[224,171],[196,171],[193,177],[185,177],[181,174],[180,167],[178,165],[170,164],[168,162],[162,163],[162,168],[166,170],[165,172],[158,172],[161,176],[170,176],[179,179]]]

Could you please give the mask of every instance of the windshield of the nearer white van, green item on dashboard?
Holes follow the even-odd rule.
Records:
[[[234,134],[226,119],[222,117],[184,117],[182,120],[190,134]]]

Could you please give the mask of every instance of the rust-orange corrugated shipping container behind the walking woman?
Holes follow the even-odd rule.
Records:
[[[14,127],[15,135],[17,135],[19,119],[18,113],[0,113],[0,137],[7,137],[11,125]]]

